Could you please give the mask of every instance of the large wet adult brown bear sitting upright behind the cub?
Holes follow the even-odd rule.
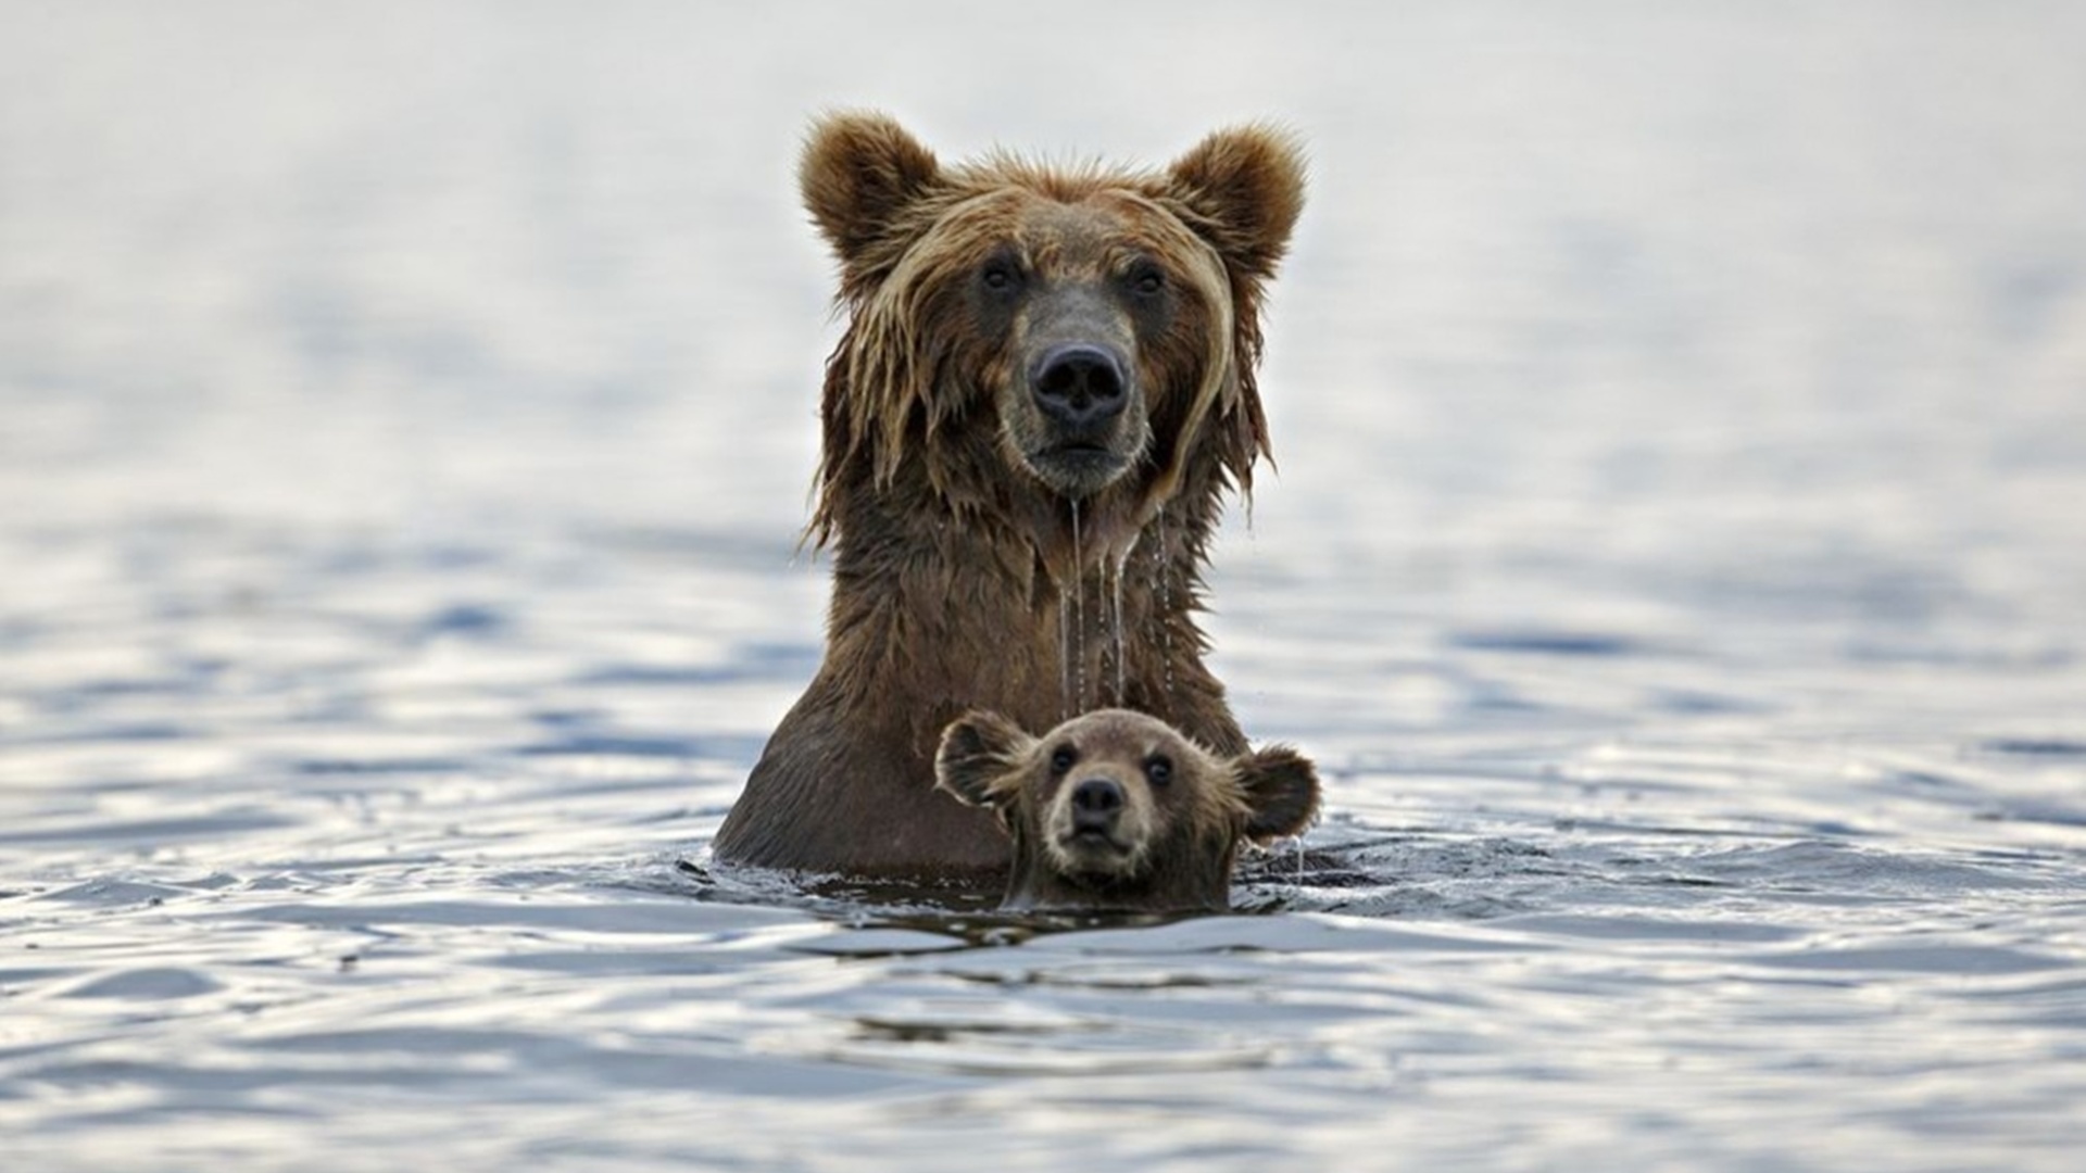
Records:
[[[935,791],[955,716],[1097,703],[1245,751],[1195,626],[1222,495],[1266,455],[1260,298],[1304,202],[1283,131],[1162,171],[943,167],[882,115],[820,121],[803,200],[841,261],[811,536],[826,660],[724,818],[718,860],[1005,875],[993,816]]]

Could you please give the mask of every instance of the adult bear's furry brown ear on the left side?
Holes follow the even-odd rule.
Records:
[[[814,123],[797,165],[803,207],[843,265],[855,265],[939,177],[932,150],[891,117],[868,111]]]

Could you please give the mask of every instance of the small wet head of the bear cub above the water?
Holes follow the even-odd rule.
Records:
[[[1297,835],[1318,810],[1295,749],[1224,760],[1129,710],[1043,737],[970,712],[943,733],[935,781],[1014,837],[1008,908],[1227,908],[1239,839]]]

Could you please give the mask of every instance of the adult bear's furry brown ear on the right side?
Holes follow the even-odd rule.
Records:
[[[1304,211],[1304,144],[1277,125],[1220,129],[1166,169],[1170,194],[1224,263],[1252,280],[1275,276]]]

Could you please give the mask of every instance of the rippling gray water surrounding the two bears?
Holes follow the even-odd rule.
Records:
[[[870,8],[0,6],[0,1167],[2076,1169],[2086,8]],[[1239,914],[707,866],[834,104],[1310,140]]]

